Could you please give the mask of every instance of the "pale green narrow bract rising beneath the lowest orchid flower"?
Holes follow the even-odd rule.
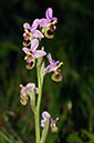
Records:
[[[41,137],[41,142],[40,143],[44,143],[46,135],[48,135],[48,131],[49,131],[49,124],[50,124],[50,120],[48,119],[44,125],[44,129],[42,131],[42,137]]]

